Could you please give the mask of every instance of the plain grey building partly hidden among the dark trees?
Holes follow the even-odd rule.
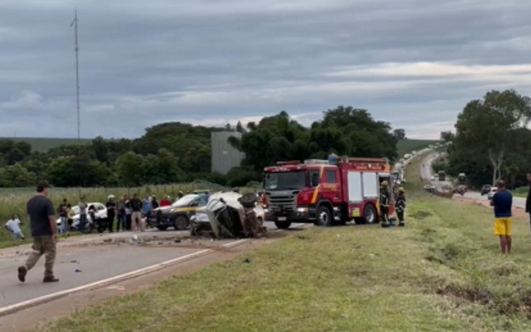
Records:
[[[212,144],[212,172],[227,174],[233,167],[238,167],[245,154],[227,142],[230,136],[241,138],[238,132],[215,132],[211,134]]]

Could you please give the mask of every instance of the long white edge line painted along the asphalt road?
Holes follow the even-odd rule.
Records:
[[[306,224],[294,224],[293,226],[294,227],[298,227],[298,226],[304,226],[304,225],[306,225]],[[241,240],[225,243],[225,244],[222,245],[222,247],[225,247],[225,248],[235,247],[235,246],[238,246],[239,244],[244,243],[244,242],[249,241],[249,240],[251,240],[251,239],[241,239]],[[93,283],[90,283],[90,284],[82,285],[82,286],[75,287],[75,288],[68,289],[68,290],[64,290],[64,291],[59,291],[59,292],[52,293],[52,294],[47,294],[47,295],[40,296],[40,297],[35,298],[35,299],[31,299],[31,300],[15,303],[15,304],[12,304],[12,305],[7,305],[6,307],[0,308],[0,317],[1,316],[5,316],[6,314],[12,313],[14,311],[22,310],[22,309],[29,308],[29,307],[34,307],[35,305],[38,305],[38,304],[41,304],[41,303],[45,303],[45,302],[49,302],[49,301],[52,301],[52,300],[55,300],[55,299],[58,299],[58,298],[62,298],[63,296],[66,296],[66,295],[69,295],[69,294],[72,294],[72,293],[86,291],[86,290],[93,289],[93,288],[99,288],[99,287],[102,287],[102,286],[105,286],[105,285],[108,285],[108,284],[112,284],[112,283],[115,283],[115,282],[118,282],[118,281],[123,281],[123,280],[126,280],[126,279],[130,279],[130,278],[138,277],[138,276],[145,275],[145,274],[148,274],[148,273],[152,273],[152,272],[158,271],[158,270],[160,270],[162,268],[165,268],[167,266],[171,266],[171,265],[175,265],[177,263],[181,263],[181,261],[193,259],[193,258],[204,256],[204,255],[207,255],[207,254],[211,254],[212,252],[215,252],[215,250],[214,249],[200,250],[200,251],[197,251],[197,252],[193,252],[192,254],[189,254],[189,255],[185,255],[185,256],[174,258],[174,259],[166,260],[166,261],[164,261],[162,263],[158,263],[158,264],[155,264],[155,265],[144,267],[144,268],[141,268],[141,269],[138,269],[138,270],[127,272],[127,273],[124,273],[124,274],[121,274],[121,275],[117,275],[117,276],[114,276],[114,277],[103,279],[103,280],[100,280],[100,281],[97,281],[97,282],[93,282]]]

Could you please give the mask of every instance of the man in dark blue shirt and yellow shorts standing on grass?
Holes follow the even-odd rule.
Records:
[[[512,194],[506,190],[505,182],[502,180],[498,181],[498,191],[492,196],[491,206],[494,206],[494,235],[500,237],[502,254],[510,254]]]

